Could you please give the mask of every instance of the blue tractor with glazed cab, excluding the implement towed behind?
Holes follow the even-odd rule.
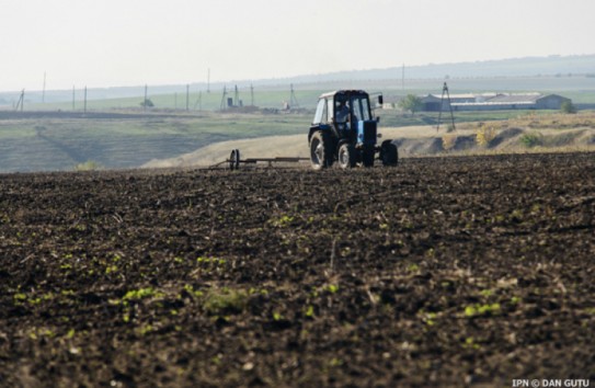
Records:
[[[378,96],[382,103],[382,96]],[[373,118],[369,95],[362,90],[324,93],[318,101],[308,133],[310,161],[314,170],[335,161],[343,169],[373,167],[376,156],[384,166],[397,166],[399,153],[391,140],[377,144],[379,118]]]

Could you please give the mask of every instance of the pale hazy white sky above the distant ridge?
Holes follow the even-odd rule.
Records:
[[[0,91],[595,54],[594,0],[0,0]]]

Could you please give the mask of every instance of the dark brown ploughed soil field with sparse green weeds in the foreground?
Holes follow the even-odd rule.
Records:
[[[595,380],[595,155],[0,176],[2,387]]]

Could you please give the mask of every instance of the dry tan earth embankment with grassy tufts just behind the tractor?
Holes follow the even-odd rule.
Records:
[[[595,129],[524,129],[505,128],[493,133],[485,144],[477,140],[477,129],[469,125],[446,133],[434,126],[384,128],[382,139],[393,139],[402,158],[497,152],[575,151],[595,149]],[[151,160],[144,168],[211,166],[229,158],[232,149],[240,149],[250,158],[308,158],[306,135],[273,136],[258,139],[230,140],[209,145],[176,158]]]

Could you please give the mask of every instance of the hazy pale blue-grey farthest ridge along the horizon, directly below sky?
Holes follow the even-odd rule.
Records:
[[[538,77],[538,76],[568,76],[568,75],[592,75],[595,77],[595,54],[576,56],[549,56],[549,57],[525,57],[499,60],[483,60],[458,64],[430,64],[423,66],[408,66],[404,64],[405,79],[444,79],[444,78],[495,78],[495,77]],[[294,83],[295,85],[307,83],[323,83],[336,81],[377,81],[394,80],[402,77],[402,65],[368,70],[337,71],[322,75],[305,75],[289,78],[262,79],[262,80],[230,80],[228,82],[211,83],[210,90],[221,90],[224,85],[237,84],[248,88],[250,84],[258,87],[283,87]],[[191,83],[192,90],[206,90],[205,82]],[[185,85],[149,85],[150,94],[179,93]],[[114,87],[89,89],[90,100],[123,99],[142,95],[145,85]],[[82,90],[77,90],[80,100]],[[20,91],[0,92],[0,106],[13,104],[20,95]],[[46,102],[71,101],[72,90],[46,91]],[[41,91],[27,91],[28,103],[42,102]]]

